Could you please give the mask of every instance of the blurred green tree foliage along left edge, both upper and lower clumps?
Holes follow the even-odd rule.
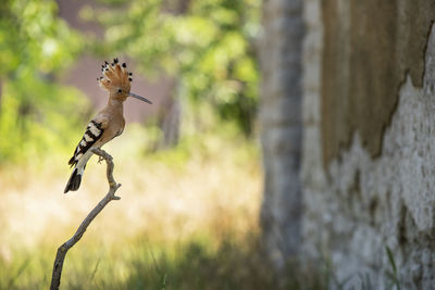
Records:
[[[54,83],[82,49],[57,9],[54,0],[0,5],[0,163],[53,152],[84,112],[78,91]]]

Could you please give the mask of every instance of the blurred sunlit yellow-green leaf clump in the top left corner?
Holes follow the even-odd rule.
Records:
[[[72,62],[82,41],[57,17],[54,1],[15,0],[5,5],[0,17],[0,39],[5,40],[0,42],[3,73],[18,65],[52,72]]]

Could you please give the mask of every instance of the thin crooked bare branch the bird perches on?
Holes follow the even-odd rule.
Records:
[[[59,289],[61,283],[61,275],[62,275],[62,267],[63,262],[65,260],[66,252],[78,242],[83,235],[85,234],[86,229],[94,220],[94,218],[104,209],[104,206],[111,202],[112,200],[120,200],[120,197],[115,196],[116,190],[121,187],[121,184],[116,184],[115,179],[113,178],[113,157],[108,154],[104,150],[101,149],[92,149],[92,152],[100,156],[100,159],[105,160],[107,163],[107,178],[109,182],[109,192],[105,197],[94,207],[94,210],[86,216],[86,218],[82,222],[80,226],[78,227],[77,231],[74,236],[64,242],[58,249],[58,253],[55,254],[54,265],[53,265],[53,274],[51,277],[51,286],[50,290]]]

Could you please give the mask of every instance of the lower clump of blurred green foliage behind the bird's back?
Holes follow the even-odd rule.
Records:
[[[86,108],[85,98],[77,96],[80,93],[75,89],[33,78],[5,81],[0,135],[7,141],[0,142],[0,162],[45,157],[66,149],[70,134],[80,125],[80,113],[75,110],[84,112]]]

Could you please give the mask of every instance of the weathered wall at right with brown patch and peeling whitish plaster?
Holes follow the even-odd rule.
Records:
[[[375,2],[304,2],[304,251],[382,289],[389,247],[403,289],[434,289],[433,1]]]

